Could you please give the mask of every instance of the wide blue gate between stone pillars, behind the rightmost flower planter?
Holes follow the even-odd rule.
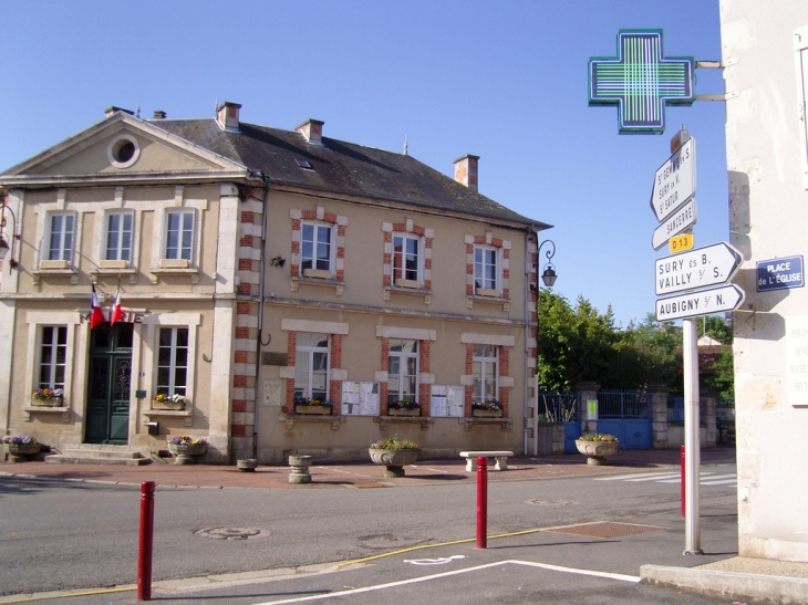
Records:
[[[649,449],[651,397],[640,390],[598,392],[598,432],[611,432],[623,449]]]

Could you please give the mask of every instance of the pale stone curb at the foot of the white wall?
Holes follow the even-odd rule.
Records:
[[[643,584],[763,603],[808,603],[808,578],[642,565]]]

